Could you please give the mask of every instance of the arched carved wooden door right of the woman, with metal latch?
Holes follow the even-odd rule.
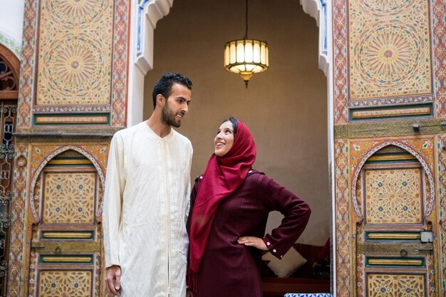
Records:
[[[420,161],[400,147],[385,147],[365,162],[356,191],[363,211],[358,296],[436,296],[432,185]]]

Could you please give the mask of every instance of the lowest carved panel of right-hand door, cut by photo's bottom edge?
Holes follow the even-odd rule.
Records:
[[[367,287],[368,297],[425,296],[425,276],[369,273]]]

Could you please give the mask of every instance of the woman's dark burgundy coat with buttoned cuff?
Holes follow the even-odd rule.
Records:
[[[202,176],[195,179],[191,214]],[[265,234],[271,211],[284,214],[279,227]],[[310,207],[289,189],[261,172],[250,170],[244,183],[220,202],[199,266],[194,297],[261,297],[262,251],[237,243],[241,236],[263,238],[271,254],[281,258],[302,234]]]

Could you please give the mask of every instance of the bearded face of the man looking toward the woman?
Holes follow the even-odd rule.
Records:
[[[162,108],[162,123],[173,127],[180,127],[181,120],[189,110],[191,91],[181,85],[174,83],[169,98]]]

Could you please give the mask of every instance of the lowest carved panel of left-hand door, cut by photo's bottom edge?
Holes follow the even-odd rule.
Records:
[[[39,271],[39,296],[92,296],[91,271]]]

